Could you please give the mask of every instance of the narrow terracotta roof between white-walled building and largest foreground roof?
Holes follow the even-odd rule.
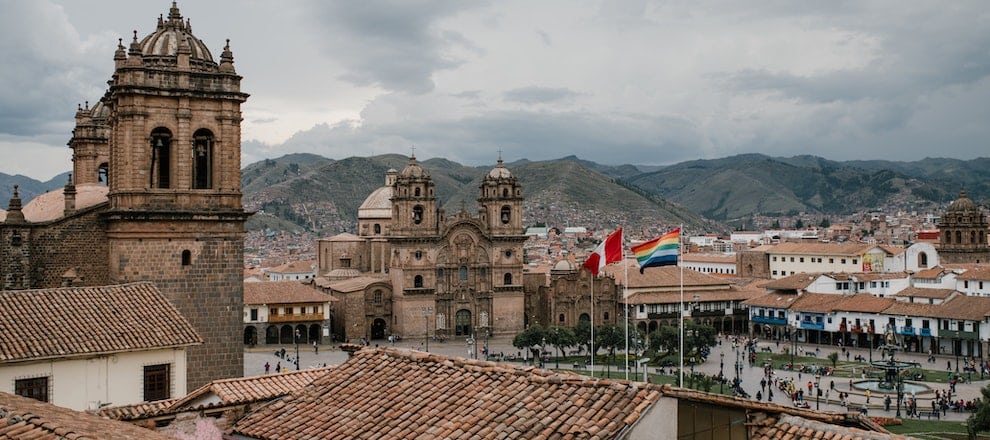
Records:
[[[183,411],[264,402],[299,390],[333,368],[336,366],[215,380],[185,397],[106,407],[96,411],[96,414],[115,420],[140,420]]]

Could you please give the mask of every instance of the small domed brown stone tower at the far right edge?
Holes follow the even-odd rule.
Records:
[[[966,196],[966,191],[962,191],[959,198],[949,205],[938,226],[938,255],[942,263],[990,261],[987,216]]]

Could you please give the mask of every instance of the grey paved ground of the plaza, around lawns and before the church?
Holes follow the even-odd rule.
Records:
[[[459,357],[474,357],[475,353],[477,353],[478,357],[484,358],[484,355],[481,353],[481,348],[484,346],[484,341],[480,341],[480,342],[481,343],[477,344],[477,346],[469,346],[463,338],[457,340],[449,339],[446,342],[442,342],[442,343],[431,340],[429,341],[429,351],[433,353],[440,353],[448,356],[459,356]],[[376,345],[376,343],[372,342],[371,345],[374,346]],[[411,348],[416,350],[425,350],[427,348],[426,347],[427,344],[422,339],[418,339],[418,340],[406,339],[399,341],[395,344],[390,344],[386,341],[378,341],[377,345],[382,345],[382,346],[391,345],[391,346]],[[779,352],[779,348],[776,346],[776,344],[770,344],[765,342],[759,343],[759,346],[761,347],[765,347],[768,345],[771,346],[771,348],[774,351]],[[521,355],[521,351],[512,346],[512,338],[510,337],[492,338],[489,341],[489,347],[491,347],[491,353],[493,356],[500,353],[505,354],[506,356]],[[798,347],[806,351],[814,351],[816,347],[819,348],[821,353],[819,358],[821,359],[822,366],[827,366],[830,364],[828,358],[826,357],[828,356],[829,353],[833,351],[839,351],[838,347],[826,346],[826,345],[798,344]],[[285,348],[286,351],[285,359],[276,357],[274,354],[276,349],[281,349],[281,348]],[[854,359],[856,355],[861,355],[869,359],[869,350],[865,348],[852,348],[852,349],[847,349],[847,351],[851,351],[850,359]],[[713,348],[711,355],[708,357],[708,361],[705,362],[704,364],[697,365],[695,367],[695,371],[703,372],[706,374],[715,374],[715,375],[717,375],[719,371],[722,371],[724,375],[731,380],[733,377],[735,377],[734,371],[735,371],[735,363],[736,363],[736,352],[737,350],[733,350],[731,342],[729,342],[727,339],[723,339],[721,341],[721,344],[716,345]],[[750,366],[749,362],[745,361],[743,350],[739,349],[738,352],[739,352],[739,359],[742,364],[742,373],[740,375],[740,378],[742,379],[742,387],[744,390],[746,390],[747,393],[750,394],[750,396],[755,396],[756,392],[760,390],[760,379],[763,377],[763,368],[760,365]],[[724,362],[723,365],[720,366],[719,361],[723,359],[720,357],[721,354],[724,354]],[[873,353],[874,360],[879,359],[879,356],[880,356],[879,351]],[[258,374],[264,374],[265,363],[269,364],[270,373],[274,373],[275,368],[278,365],[280,365],[283,368],[295,369],[295,363],[291,361],[291,359],[294,357],[295,357],[295,346],[293,345],[260,346],[254,349],[246,350],[244,354],[244,375],[253,376]],[[335,346],[320,346],[319,352],[314,353],[312,346],[300,345],[299,358],[300,358],[300,368],[315,368],[315,367],[323,366],[324,364],[326,365],[341,364],[347,360],[347,354],[340,351]],[[954,356],[953,357],[936,356],[936,362],[934,364],[928,363],[927,356],[924,354],[898,353],[897,359],[918,362],[921,364],[922,368],[928,370],[941,369],[945,371],[945,374],[948,374],[948,371],[946,371],[944,368],[947,361],[951,361],[953,366],[955,366],[956,364],[956,359]],[[864,362],[863,365],[867,366],[867,363]],[[547,366],[552,368],[554,364],[550,362],[547,363]],[[596,370],[599,371],[602,370],[602,368],[599,367],[598,365],[596,365],[595,367]],[[561,368],[570,369],[571,365],[562,364]],[[640,370],[640,373],[641,372],[642,370]],[[633,372],[630,371],[629,374],[630,374],[630,379],[635,380],[635,377],[633,376]],[[802,384],[807,385],[809,380],[814,381],[813,375],[809,376],[808,374],[799,374],[797,372],[785,371],[779,369],[774,370],[774,375],[778,379],[793,378],[796,385],[802,385]],[[831,377],[823,377],[821,379],[822,389],[823,390],[827,389],[829,386],[828,383],[832,380],[835,381],[835,390],[829,390],[827,400],[823,397],[819,402],[816,403],[814,397],[809,398],[809,396],[813,396],[813,393],[807,393],[807,390],[805,390],[806,392],[805,400],[809,403],[812,409],[818,407],[821,408],[821,410],[823,411],[846,412],[847,409],[839,405],[837,402],[837,396],[840,391],[849,393],[850,397],[848,400],[848,404],[849,407],[853,410],[860,408],[863,404],[866,403],[866,396],[863,392],[855,388],[850,390],[849,387],[850,379],[847,378],[832,379]],[[917,394],[917,398],[919,399],[918,410],[930,411],[931,410],[930,402],[931,402],[931,398],[934,397],[934,390],[939,389],[944,392],[948,390],[949,385],[944,383],[930,383],[930,382],[921,382],[921,383],[927,384],[932,389],[932,391]],[[973,375],[972,382],[959,383],[956,385],[956,392],[952,393],[952,398],[953,400],[958,401],[959,399],[972,400],[974,398],[980,397],[980,388],[988,385],[988,383],[990,383],[990,377],[984,380],[980,380],[978,374]],[[766,392],[762,392],[762,394],[766,394]],[[884,417],[894,416],[896,403],[891,404],[890,411],[885,411],[883,409],[883,397],[884,395],[881,393],[872,393],[869,402],[870,404],[868,405],[869,415],[884,416]],[[892,395],[891,397],[896,401],[896,396]],[[764,399],[766,399],[766,397],[764,397]],[[774,402],[783,405],[791,404],[789,398],[785,397],[782,392],[778,392],[776,390],[774,392]],[[906,412],[904,408],[901,408],[901,415],[906,416]],[[948,413],[944,417],[942,417],[942,420],[965,420],[966,417],[968,416],[969,413],[967,412],[957,413],[952,410],[949,410]]]

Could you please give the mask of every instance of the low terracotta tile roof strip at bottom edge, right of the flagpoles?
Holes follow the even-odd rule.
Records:
[[[797,439],[829,439],[829,440],[895,440],[909,439],[903,435],[884,432],[867,431],[848,426],[836,426],[817,420],[782,414],[779,417],[768,417],[756,422],[748,437],[750,440],[797,440]]]

